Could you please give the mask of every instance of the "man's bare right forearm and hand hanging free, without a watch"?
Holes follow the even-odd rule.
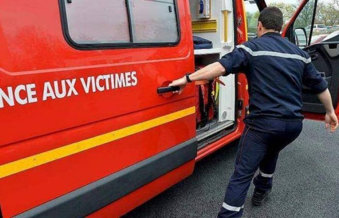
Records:
[[[338,118],[332,105],[331,94],[328,89],[326,89],[324,92],[318,94],[318,98],[323,103],[324,108],[326,109],[326,129],[330,127],[331,132],[334,132],[338,128]]]

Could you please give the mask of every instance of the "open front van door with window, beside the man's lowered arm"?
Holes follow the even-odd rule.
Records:
[[[317,0],[304,0],[282,32],[291,42],[308,52],[315,68],[328,82],[333,107],[339,114],[339,31],[314,30]],[[326,36],[327,35],[327,36]],[[319,42],[319,38],[324,37]],[[303,87],[303,111],[308,119],[324,120],[325,109],[316,94]]]

